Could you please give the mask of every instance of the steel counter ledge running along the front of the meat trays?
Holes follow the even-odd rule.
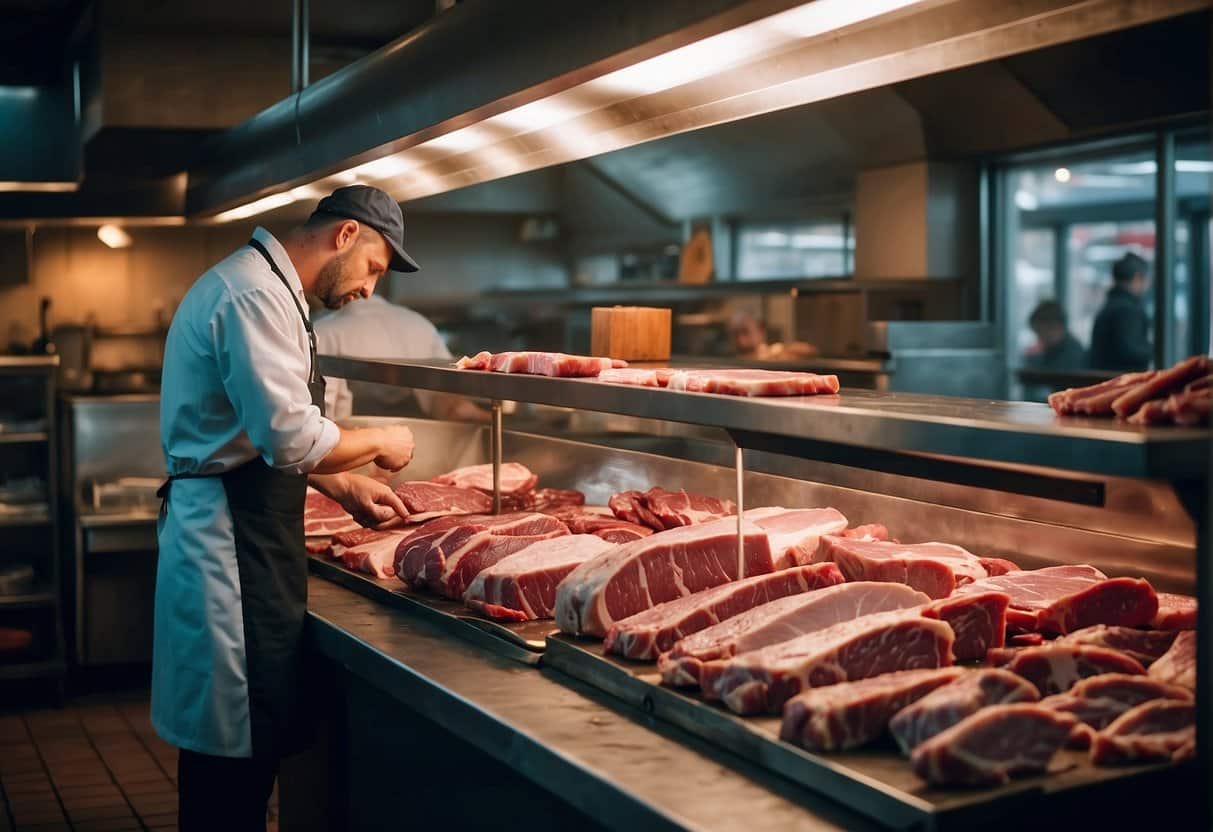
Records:
[[[876,828],[557,671],[501,659],[323,579],[309,579],[308,593],[317,653],[608,828]]]

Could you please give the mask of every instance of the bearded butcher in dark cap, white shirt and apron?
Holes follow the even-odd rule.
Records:
[[[300,650],[307,606],[307,486],[364,525],[404,515],[392,490],[349,473],[399,471],[403,426],[349,431],[324,415],[306,296],[369,297],[416,272],[404,217],[351,186],[306,223],[252,239],[203,274],[169,329],[160,435],[152,723],[180,750],[180,826],[263,830],[279,759],[304,741]]]

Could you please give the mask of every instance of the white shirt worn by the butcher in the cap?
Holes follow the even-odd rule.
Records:
[[[307,314],[286,250],[258,240]],[[244,246],[190,287],[172,318],[160,389],[160,437],[170,474],[220,473],[260,455],[308,473],[341,439],[308,391],[308,340],[290,291]]]

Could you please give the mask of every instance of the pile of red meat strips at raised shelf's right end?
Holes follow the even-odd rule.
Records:
[[[1134,424],[1208,424],[1211,403],[1213,371],[1207,355],[1049,397],[1049,405],[1063,415],[1116,416]]]

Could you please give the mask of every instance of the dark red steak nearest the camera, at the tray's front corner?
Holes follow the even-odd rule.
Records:
[[[1074,717],[1033,702],[993,705],[918,745],[910,765],[938,786],[993,786],[1044,771]]]

